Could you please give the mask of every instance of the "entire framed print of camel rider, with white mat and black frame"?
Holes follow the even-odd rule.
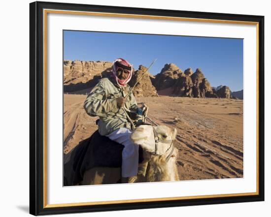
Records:
[[[30,213],[264,200],[264,17],[30,3]]]

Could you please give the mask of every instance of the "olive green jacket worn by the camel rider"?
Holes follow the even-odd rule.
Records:
[[[84,109],[87,114],[99,116],[99,133],[108,135],[120,127],[131,129],[123,108],[118,108],[116,98],[124,97],[131,90],[130,86],[120,87],[112,79],[102,78],[88,94]],[[125,107],[135,109],[137,107],[135,96],[131,92],[126,99]]]

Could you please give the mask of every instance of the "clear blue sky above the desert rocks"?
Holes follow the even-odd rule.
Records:
[[[155,75],[166,63],[183,71],[201,68],[212,87],[243,89],[243,40],[233,38],[64,31],[64,60],[109,61],[124,58],[149,66]]]

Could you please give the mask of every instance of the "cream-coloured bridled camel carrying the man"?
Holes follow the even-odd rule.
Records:
[[[145,175],[129,178],[128,183],[178,181],[176,158],[178,150],[173,146],[176,129],[168,126],[140,125],[131,134],[132,141],[143,150],[143,162],[147,163]],[[85,171],[78,185],[121,183],[121,168],[95,167]]]

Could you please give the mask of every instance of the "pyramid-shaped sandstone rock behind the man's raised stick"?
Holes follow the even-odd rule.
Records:
[[[135,83],[142,77],[147,67],[139,65],[138,70],[134,72],[131,81],[128,83],[132,88]],[[158,96],[155,87],[151,83],[151,77],[153,77],[148,71],[142,77],[142,79],[136,84],[133,93],[135,96]]]

